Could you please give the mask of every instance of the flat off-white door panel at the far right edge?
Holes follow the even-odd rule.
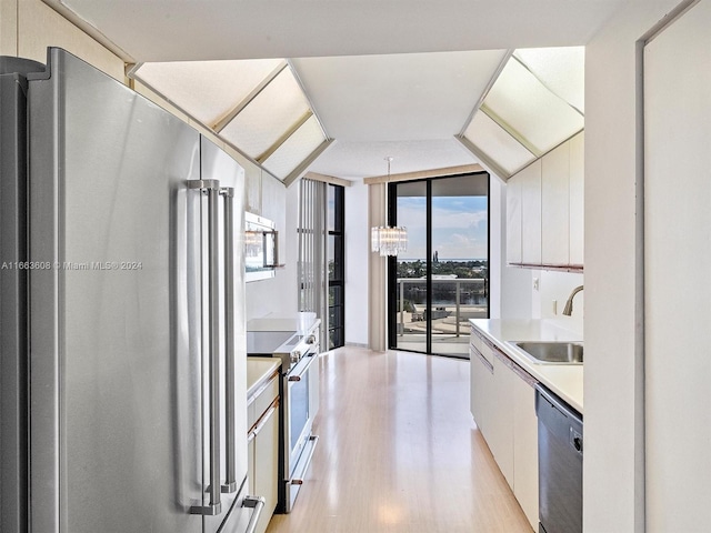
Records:
[[[647,531],[708,529],[711,2],[644,46]]]

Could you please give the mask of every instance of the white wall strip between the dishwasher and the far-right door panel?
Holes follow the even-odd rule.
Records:
[[[628,4],[585,49],[585,533],[644,531],[635,41],[675,3]]]

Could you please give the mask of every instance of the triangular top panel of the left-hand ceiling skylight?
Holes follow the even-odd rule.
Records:
[[[281,59],[142,63],[132,74],[201,123],[212,127],[242,102]]]

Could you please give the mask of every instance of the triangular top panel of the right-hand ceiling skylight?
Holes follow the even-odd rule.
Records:
[[[513,56],[552,92],[585,112],[585,47],[522,48]]]

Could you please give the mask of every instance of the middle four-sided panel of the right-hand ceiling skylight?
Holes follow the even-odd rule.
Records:
[[[487,94],[481,110],[542,155],[584,127],[584,118],[511,58]]]

